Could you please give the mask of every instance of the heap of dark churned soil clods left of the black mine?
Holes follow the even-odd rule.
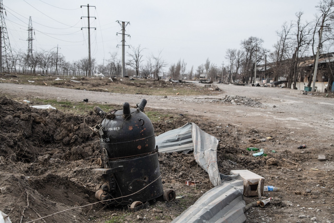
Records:
[[[94,152],[99,147],[92,144],[88,126],[97,120],[97,116],[80,117],[57,109],[36,109],[1,97],[0,156],[30,163],[46,154],[69,160],[96,155]]]

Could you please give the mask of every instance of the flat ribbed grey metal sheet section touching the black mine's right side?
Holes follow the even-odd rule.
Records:
[[[155,144],[161,153],[190,151],[194,149],[191,136],[191,123],[170,130],[155,137]]]

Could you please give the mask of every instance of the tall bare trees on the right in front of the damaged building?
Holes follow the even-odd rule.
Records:
[[[272,52],[263,47],[262,39],[254,36],[241,41],[240,49],[227,49],[225,59],[228,60],[231,76],[241,75],[243,83],[253,83],[255,65],[265,65],[262,66],[265,67],[264,78],[269,77],[269,74],[275,81],[280,76],[285,77],[288,81],[287,87],[295,89],[297,81],[307,78],[310,86],[315,66],[313,65],[313,70],[310,71],[299,66],[300,62],[306,56],[315,58],[318,46],[321,54],[327,54],[333,51],[334,45],[334,33],[330,28],[334,25],[334,0],[322,0],[316,8],[318,14],[313,22],[303,21],[303,12],[296,13],[295,21],[284,22],[282,29],[276,32],[278,41]],[[323,38],[319,43],[322,24]],[[266,69],[270,69],[270,73],[266,73]],[[332,70],[333,68],[329,67],[328,72],[324,73],[329,82],[328,90],[333,83]]]

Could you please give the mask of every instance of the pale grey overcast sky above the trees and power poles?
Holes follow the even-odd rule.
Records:
[[[98,64],[118,52],[121,58],[121,26],[126,21],[127,45],[145,48],[144,59],[161,57],[169,64],[179,59],[187,69],[197,68],[209,58],[211,63],[226,65],[228,48],[240,49],[250,36],[264,40],[273,50],[276,31],[285,21],[313,21],[317,0],[3,0],[5,21],[12,51],[26,52],[28,23],[32,19],[33,50],[56,50],[67,61],[88,57],[87,4],[91,16],[91,55]],[[80,8],[80,5],[85,5]],[[96,17],[94,19],[93,17]],[[129,48],[126,47],[126,52]],[[127,59],[127,57],[126,57]],[[165,70],[168,68],[166,67]]]

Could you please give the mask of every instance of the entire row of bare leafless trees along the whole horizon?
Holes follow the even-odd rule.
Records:
[[[194,70],[191,66],[187,70],[187,63],[179,59],[176,63],[168,64],[162,58],[162,51],[157,55],[150,54],[144,57],[145,48],[141,45],[131,46],[127,53],[126,75],[141,76],[144,78],[159,79],[164,68],[168,66],[167,76],[173,79],[194,79],[201,73],[206,73],[211,80],[227,77],[226,81],[233,82],[236,79],[243,83],[254,82],[255,67],[261,71],[258,77],[271,77],[274,81],[279,77],[288,80],[287,87],[296,88],[297,81],[309,80],[312,82],[313,71],[303,70],[299,66],[305,56],[315,56],[317,46],[321,47],[321,53],[329,53],[333,50],[334,32],[331,26],[334,25],[334,0],[322,0],[316,6],[318,14],[314,22],[303,20],[303,12],[296,13],[295,21],[284,22],[281,30],[278,30],[278,41],[273,46],[273,51],[263,47],[264,40],[256,36],[240,41],[239,49],[227,49],[225,59],[228,63],[222,66],[210,62],[209,58]],[[319,26],[324,23],[323,38],[319,43]],[[329,24],[329,25],[327,25]],[[121,75],[121,58],[117,52],[109,53],[110,57],[104,64],[97,64],[92,59],[92,73],[103,73],[106,76]],[[54,49],[49,51],[35,52],[33,55],[19,52],[15,55],[15,67],[24,73],[40,73],[45,75],[78,75],[87,76],[89,71],[88,58],[68,62],[62,54]],[[314,66],[313,66],[314,67]],[[270,72],[267,72],[270,70]],[[333,68],[332,68],[333,70]],[[327,72],[330,83],[333,82],[333,72]],[[224,80],[225,81],[225,80]],[[331,85],[329,84],[328,88]]]

